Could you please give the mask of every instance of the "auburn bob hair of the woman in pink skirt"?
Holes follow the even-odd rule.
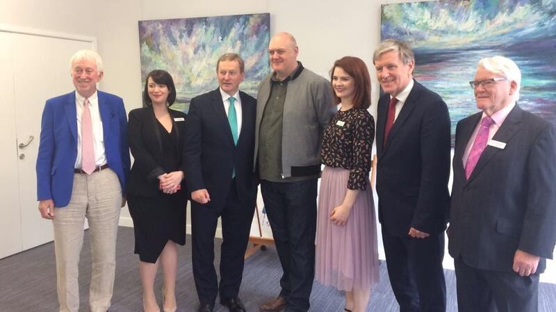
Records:
[[[355,92],[353,95],[354,108],[369,108],[370,106],[370,76],[365,62],[361,58],[355,56],[344,56],[334,62],[334,66],[330,69],[330,83],[334,76],[334,69],[340,67],[348,75],[353,78]],[[340,104],[341,99],[334,92],[334,104]]]

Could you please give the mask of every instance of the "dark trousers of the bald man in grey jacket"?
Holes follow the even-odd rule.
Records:
[[[281,293],[286,311],[306,312],[315,277],[317,179],[261,181],[261,192],[284,274]]]

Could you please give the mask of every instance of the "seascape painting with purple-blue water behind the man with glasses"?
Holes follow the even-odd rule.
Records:
[[[410,42],[415,78],[438,92],[455,125],[477,112],[477,62],[506,56],[522,73],[518,104],[556,123],[556,0],[450,0],[382,6],[382,39]]]

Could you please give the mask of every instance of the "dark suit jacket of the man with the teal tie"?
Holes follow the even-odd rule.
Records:
[[[242,202],[256,199],[252,170],[256,99],[239,92],[242,123],[238,145],[234,145],[220,89],[191,99],[186,126],[185,167],[190,192],[206,188],[211,201],[204,206],[220,209],[229,192],[236,168],[236,186]]]

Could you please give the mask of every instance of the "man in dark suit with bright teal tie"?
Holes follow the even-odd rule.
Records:
[[[191,100],[186,124],[186,182],[191,192],[193,277],[199,312],[211,312],[217,295],[231,312],[245,312],[238,298],[256,200],[252,170],[256,100],[239,91],[245,78],[238,54],[216,66],[220,87]],[[213,265],[214,236],[222,219],[220,286]]]

